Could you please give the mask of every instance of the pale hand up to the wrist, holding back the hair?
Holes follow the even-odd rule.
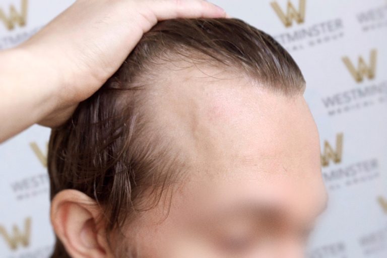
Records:
[[[51,105],[36,122],[57,126],[119,68],[160,20],[225,17],[202,0],[78,0],[19,48],[39,62]],[[39,71],[36,71],[39,73]],[[45,87],[43,89],[43,87]],[[47,88],[48,87],[48,88]],[[36,89],[39,91],[40,89]]]

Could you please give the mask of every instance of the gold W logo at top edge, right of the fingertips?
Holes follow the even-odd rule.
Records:
[[[281,19],[285,27],[292,26],[293,20],[298,24],[303,23],[305,20],[305,5],[306,0],[299,0],[298,10],[293,6],[293,4],[288,1],[286,14],[282,11],[281,7],[277,2],[270,3],[274,11],[277,13],[278,17]]]

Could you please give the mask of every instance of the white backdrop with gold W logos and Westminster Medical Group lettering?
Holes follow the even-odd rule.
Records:
[[[0,50],[26,40],[73,2],[1,0]],[[213,2],[273,35],[305,76],[330,194],[307,256],[386,258],[387,1]],[[48,257],[52,250],[49,133],[35,125],[0,145],[1,258]]]

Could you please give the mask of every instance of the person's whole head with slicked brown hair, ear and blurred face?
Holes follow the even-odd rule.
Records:
[[[159,23],[52,130],[53,257],[300,257],[326,202],[304,89],[240,20]]]

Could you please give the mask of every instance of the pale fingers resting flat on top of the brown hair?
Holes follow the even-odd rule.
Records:
[[[204,0],[146,0],[142,1],[157,20],[174,18],[223,18],[226,12]]]

